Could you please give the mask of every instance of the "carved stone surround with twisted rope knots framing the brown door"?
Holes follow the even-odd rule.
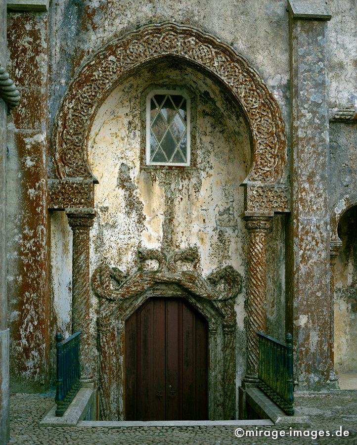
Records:
[[[99,392],[102,420],[124,420],[125,320],[149,297],[180,297],[208,321],[208,405],[209,419],[235,416],[235,332],[234,303],[242,278],[231,266],[206,278],[194,270],[179,270],[177,262],[198,262],[193,249],[179,250],[168,257],[155,249],[139,250],[139,267],[127,276],[105,264],[92,275],[92,287],[99,296]],[[147,260],[156,260],[155,270],[145,270]]]

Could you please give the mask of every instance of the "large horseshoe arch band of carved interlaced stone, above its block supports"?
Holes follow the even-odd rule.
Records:
[[[239,102],[253,139],[253,159],[245,182],[279,182],[286,163],[286,138],[279,106],[267,86],[232,47],[194,28],[173,23],[145,26],[114,40],[82,66],[55,121],[53,148],[58,178],[93,178],[87,150],[98,108],[130,70],[166,55],[204,67]]]

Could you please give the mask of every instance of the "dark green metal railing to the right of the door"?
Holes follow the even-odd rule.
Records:
[[[258,332],[259,388],[287,415],[294,414],[293,345],[287,334],[285,343]]]

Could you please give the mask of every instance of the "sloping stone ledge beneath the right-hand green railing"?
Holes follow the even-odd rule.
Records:
[[[301,415],[296,409],[293,416],[287,416],[285,412],[271,401],[258,388],[246,389],[246,402],[261,417],[268,417],[275,425],[287,425],[291,427],[310,428],[310,422],[306,416]]]

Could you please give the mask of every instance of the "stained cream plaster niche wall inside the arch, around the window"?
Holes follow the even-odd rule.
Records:
[[[146,95],[160,86],[191,94],[188,168],[156,168],[143,159]],[[92,251],[100,255],[92,255],[93,264],[103,257],[129,270],[140,246],[196,246],[203,274],[222,264],[244,273],[239,185],[249,171],[250,132],[235,102],[206,70],[168,57],[144,63],[110,93],[89,135],[89,167],[99,181],[90,236]],[[94,247],[99,245],[100,251]]]

